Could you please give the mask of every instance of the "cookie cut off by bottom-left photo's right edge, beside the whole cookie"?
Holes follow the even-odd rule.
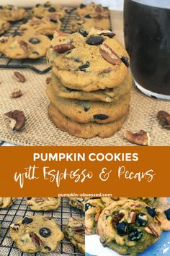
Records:
[[[85,253],[84,218],[69,218],[65,229],[66,237],[82,253]]]

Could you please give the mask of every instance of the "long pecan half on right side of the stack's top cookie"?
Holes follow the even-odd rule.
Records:
[[[102,46],[99,48],[100,54],[102,55],[105,61],[109,62],[112,65],[117,65],[121,63],[120,57],[112,50],[106,43],[102,43]]]

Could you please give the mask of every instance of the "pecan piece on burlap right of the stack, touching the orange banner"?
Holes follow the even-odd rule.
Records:
[[[124,137],[129,142],[137,145],[148,146],[150,144],[150,136],[147,132],[143,131],[143,129],[140,129],[140,131],[136,133],[126,131]]]

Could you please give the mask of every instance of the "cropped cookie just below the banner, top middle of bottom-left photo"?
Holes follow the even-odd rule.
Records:
[[[27,197],[26,205],[31,210],[56,210],[61,205],[60,197]]]

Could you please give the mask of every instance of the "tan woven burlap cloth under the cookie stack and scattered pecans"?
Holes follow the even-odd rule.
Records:
[[[35,62],[30,61],[30,64],[35,65]],[[39,60],[36,61],[36,67],[44,69],[47,66],[45,61]],[[169,101],[148,98],[133,88],[130,114],[120,132],[107,139],[95,137],[84,140],[62,132],[48,118],[49,101],[45,94],[45,80],[50,72],[42,75],[22,69],[20,72],[27,79],[24,83],[17,82],[13,72],[12,69],[0,69],[0,140],[17,145],[132,145],[123,139],[125,130],[138,132],[144,129],[151,135],[151,145],[170,145],[169,130],[163,129],[156,118],[159,110],[170,112]],[[11,93],[15,88],[22,90],[21,98],[11,98]],[[22,132],[12,132],[9,120],[4,116],[4,113],[14,109],[24,111],[27,118],[25,129]]]

